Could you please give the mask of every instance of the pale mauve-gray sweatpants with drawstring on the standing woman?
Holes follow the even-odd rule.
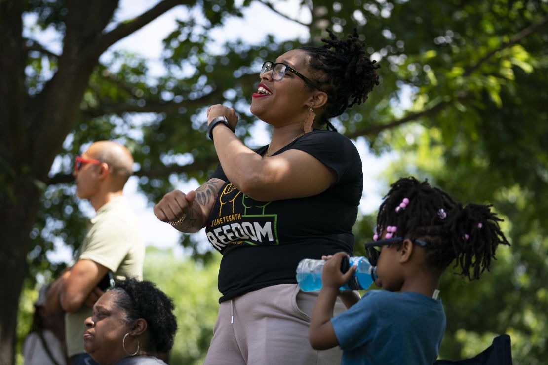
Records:
[[[338,347],[318,351],[310,346],[310,315],[317,298],[318,292],[281,284],[221,303],[204,365],[340,364]],[[334,314],[344,309],[337,299]]]

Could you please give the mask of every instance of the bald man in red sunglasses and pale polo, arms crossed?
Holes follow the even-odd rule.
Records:
[[[96,211],[80,246],[76,262],[55,280],[47,294],[46,310],[65,311],[67,352],[72,365],[96,364],[84,352],[85,318],[103,294],[105,277],[142,278],[145,245],[138,217],[122,196],[133,173],[128,149],[112,141],[93,143],[76,157],[73,175],[76,196]]]

